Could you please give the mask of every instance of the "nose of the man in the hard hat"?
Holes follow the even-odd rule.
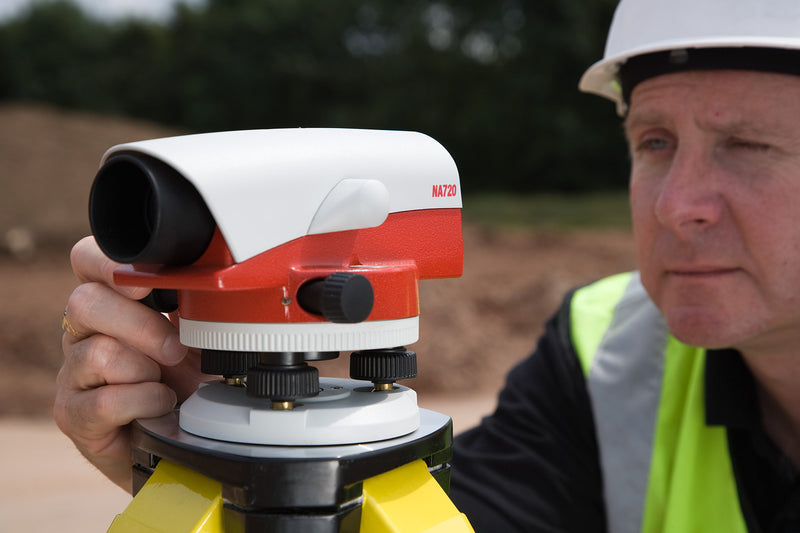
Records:
[[[716,224],[722,214],[718,169],[702,149],[678,148],[656,198],[658,221],[676,232]]]

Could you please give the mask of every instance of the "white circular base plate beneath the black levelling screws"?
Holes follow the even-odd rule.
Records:
[[[320,378],[321,391],[272,409],[267,399],[247,396],[243,387],[204,383],[180,409],[180,427],[201,437],[281,446],[359,444],[393,439],[419,427],[417,393],[395,385],[372,391],[372,383]]]

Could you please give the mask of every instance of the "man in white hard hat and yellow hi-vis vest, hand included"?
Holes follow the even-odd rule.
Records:
[[[800,4],[623,0],[581,83],[624,115],[640,273],[567,297],[457,439],[453,499],[477,531],[798,529]],[[72,261],[54,413],[127,488],[125,424],[197,357],[91,239]]]

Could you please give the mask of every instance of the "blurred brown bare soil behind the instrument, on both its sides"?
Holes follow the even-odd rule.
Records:
[[[49,416],[61,366],[61,315],[76,284],[71,244],[88,234],[89,187],[103,152],[180,132],[116,117],[0,106],[0,416]],[[502,386],[569,288],[634,265],[623,231],[488,230],[465,223],[459,279],[421,287],[424,393]],[[347,357],[320,363],[345,375]]]

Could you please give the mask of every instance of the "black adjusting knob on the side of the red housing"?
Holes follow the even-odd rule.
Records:
[[[334,272],[301,286],[297,303],[305,311],[322,315],[331,322],[355,324],[366,320],[372,312],[375,294],[372,284],[361,274]]]

